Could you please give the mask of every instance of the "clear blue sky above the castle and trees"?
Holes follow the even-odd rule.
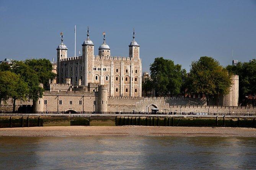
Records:
[[[256,58],[256,0],[0,0],[0,60],[52,60],[60,32],[73,56],[75,24],[77,54],[89,26],[95,55],[105,31],[111,56],[128,56],[135,28],[142,71],[160,56],[188,71],[200,56],[231,64],[232,49],[239,61]]]

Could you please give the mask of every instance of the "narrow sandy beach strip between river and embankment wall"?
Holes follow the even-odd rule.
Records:
[[[256,137],[256,128],[53,126],[0,128],[0,136],[233,136]]]

